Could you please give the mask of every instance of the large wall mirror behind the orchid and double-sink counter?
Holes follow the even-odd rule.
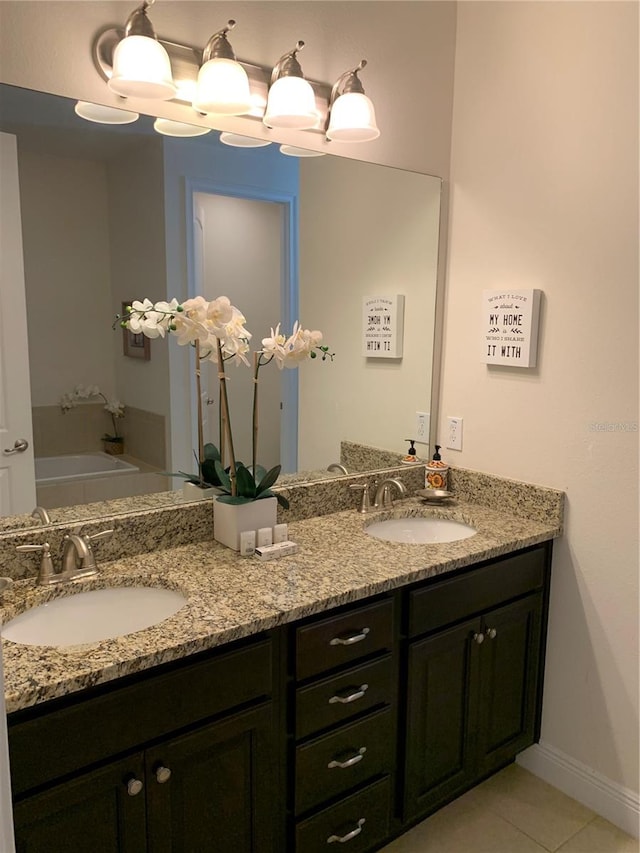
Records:
[[[298,479],[339,462],[341,442],[402,453],[416,437],[416,412],[435,417],[439,178],[337,156],[286,157],[277,145],[229,148],[216,131],[159,136],[146,116],[89,123],[69,99],[10,86],[0,87],[0,130],[18,140],[36,459],[101,449],[112,430],[100,398],[60,409],[77,384],[97,385],[125,404],[123,461],[137,468],[109,479],[107,492],[100,476],[103,491],[91,477],[40,473],[40,502],[116,499],[125,488],[135,494],[135,482],[138,494],[177,489],[158,472],[193,468],[189,353],[114,331],[114,314],[131,299],[224,293],[258,345],[278,321],[323,331],[334,360],[286,376],[274,367],[263,394],[281,453],[273,461]],[[387,296],[404,297],[402,357],[367,357],[363,302]],[[240,382],[235,368],[231,375]]]

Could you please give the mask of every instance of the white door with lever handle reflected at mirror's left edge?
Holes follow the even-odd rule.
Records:
[[[18,154],[0,133],[0,516],[35,504]]]

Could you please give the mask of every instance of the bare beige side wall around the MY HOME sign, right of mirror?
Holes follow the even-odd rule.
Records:
[[[637,810],[638,4],[460,4],[451,175],[447,458],[566,490],[542,738]],[[508,286],[544,291],[534,370],[480,363]]]

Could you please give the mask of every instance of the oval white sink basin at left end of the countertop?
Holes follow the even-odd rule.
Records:
[[[161,587],[122,586],[56,598],[26,610],[2,636],[27,646],[75,646],[132,634],[157,625],[187,603]]]

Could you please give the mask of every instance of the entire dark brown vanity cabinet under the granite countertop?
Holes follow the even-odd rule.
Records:
[[[18,853],[369,853],[535,742],[551,545],[9,718]]]

